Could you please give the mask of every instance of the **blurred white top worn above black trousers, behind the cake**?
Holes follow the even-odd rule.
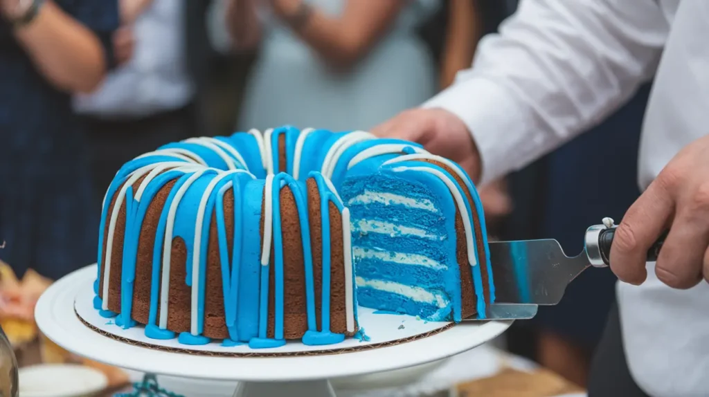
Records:
[[[182,0],[153,0],[133,26],[133,58],[108,74],[99,91],[75,96],[77,113],[140,117],[189,103],[194,87],[184,59],[183,7]]]

